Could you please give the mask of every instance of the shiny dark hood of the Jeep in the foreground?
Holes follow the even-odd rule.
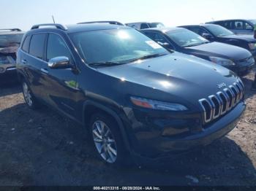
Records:
[[[151,94],[156,92],[156,98],[161,98],[163,95],[157,90],[168,93],[167,96],[162,96],[161,100],[164,101],[173,101],[175,97],[198,103],[198,98],[206,98],[217,93],[219,91],[217,85],[223,82],[232,85],[237,79],[236,74],[222,66],[179,52],[97,70],[122,82],[123,91],[136,89],[135,94],[144,93],[145,97],[148,91],[152,92]],[[129,86],[125,87],[126,83]],[[136,88],[131,90],[131,83],[135,84]],[[144,91],[144,87],[148,89]]]

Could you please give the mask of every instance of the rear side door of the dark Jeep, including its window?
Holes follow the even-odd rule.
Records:
[[[41,78],[41,66],[45,50],[46,34],[33,34],[26,36],[20,55],[20,64],[26,74],[32,93],[37,98],[43,97]]]

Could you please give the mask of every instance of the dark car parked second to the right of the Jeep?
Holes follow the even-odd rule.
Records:
[[[256,39],[251,35],[236,35],[222,26],[205,24],[198,26],[180,26],[203,36],[211,42],[223,42],[249,50],[256,58]]]

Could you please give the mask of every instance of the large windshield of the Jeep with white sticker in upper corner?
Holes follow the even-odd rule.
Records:
[[[69,34],[86,63],[127,63],[167,50],[133,28],[83,31]]]

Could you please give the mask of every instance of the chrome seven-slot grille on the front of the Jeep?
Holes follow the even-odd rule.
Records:
[[[219,91],[216,95],[199,100],[203,109],[204,122],[211,122],[233,109],[244,97],[244,84],[238,79],[233,85]]]

